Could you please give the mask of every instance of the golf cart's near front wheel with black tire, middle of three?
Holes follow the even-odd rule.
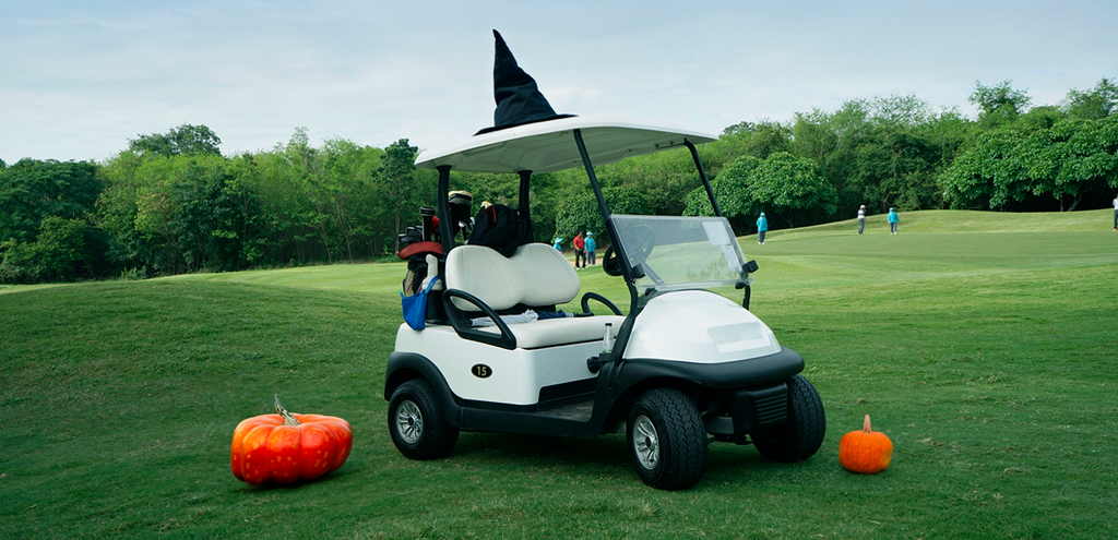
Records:
[[[699,409],[679,390],[657,388],[641,395],[625,429],[633,467],[645,484],[685,490],[707,468],[707,429]]]

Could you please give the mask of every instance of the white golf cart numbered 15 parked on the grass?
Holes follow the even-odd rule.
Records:
[[[418,167],[439,172],[439,241],[428,243],[438,264],[427,272],[445,287],[430,293],[423,330],[400,325],[388,360],[388,428],[400,453],[444,456],[459,430],[624,432],[637,474],[665,490],[702,477],[711,440],[752,444],[780,462],[815,454],[826,429],[823,404],[797,375],[803,358],[747,309],[757,266],[742,258],[694,146],[712,140],[584,116],[480,134],[418,157]],[[691,151],[717,217],[612,215],[593,163],[676,148]],[[506,257],[455,241],[451,171],[520,174],[527,217],[532,173],[575,167],[585,168],[597,196],[609,243],[604,267],[625,281],[628,314],[588,292],[584,314],[591,300],[614,314],[508,323],[502,315],[571,302],[578,275],[546,244],[515,246]],[[733,286],[745,290],[741,305],[707,291]],[[480,318],[492,324],[471,325]],[[604,351],[607,329],[614,343]]]

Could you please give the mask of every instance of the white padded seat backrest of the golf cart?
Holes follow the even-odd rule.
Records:
[[[466,245],[446,257],[446,286],[473,294],[493,310],[508,310],[570,302],[579,283],[570,262],[547,244],[524,244],[508,258],[489,247]],[[452,302],[459,310],[479,311],[462,299]]]

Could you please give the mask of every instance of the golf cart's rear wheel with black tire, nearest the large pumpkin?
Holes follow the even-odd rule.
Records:
[[[411,460],[435,460],[451,452],[458,428],[447,424],[430,383],[411,379],[388,401],[388,433],[396,448]]]

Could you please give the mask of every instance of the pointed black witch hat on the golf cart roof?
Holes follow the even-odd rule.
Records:
[[[493,30],[493,37],[496,39],[496,57],[493,60],[493,98],[496,101],[496,111],[493,112],[493,126],[479,131],[475,135],[574,116],[556,114],[548,98],[536,86],[536,79],[517,65],[517,58],[512,56],[504,38],[496,30]]]

